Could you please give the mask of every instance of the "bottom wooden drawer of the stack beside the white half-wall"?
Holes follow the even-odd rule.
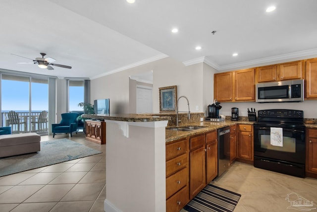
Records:
[[[189,188],[185,186],[166,200],[166,212],[179,212],[189,202]]]

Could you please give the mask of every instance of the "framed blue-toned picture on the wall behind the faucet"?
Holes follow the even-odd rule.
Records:
[[[175,111],[177,86],[159,88],[159,112]]]

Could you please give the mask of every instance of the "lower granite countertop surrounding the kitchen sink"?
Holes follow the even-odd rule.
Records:
[[[165,141],[170,142],[170,141],[183,139],[188,136],[195,136],[195,135],[199,135],[203,133],[208,133],[212,130],[217,130],[219,128],[228,127],[235,124],[253,125],[253,123],[254,122],[249,122],[249,121],[225,120],[224,122],[197,122],[197,123],[184,125],[184,126],[204,126],[205,127],[199,130],[192,130],[192,131],[174,131],[174,130],[168,130],[168,128],[172,128],[172,127],[167,127],[165,130]],[[182,127],[182,125],[180,125],[179,127]]]

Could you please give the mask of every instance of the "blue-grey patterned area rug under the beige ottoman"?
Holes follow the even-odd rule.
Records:
[[[69,139],[42,141],[41,151],[0,158],[0,177],[102,153]]]

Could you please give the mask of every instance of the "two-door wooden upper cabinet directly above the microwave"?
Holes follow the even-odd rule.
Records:
[[[303,61],[294,61],[257,68],[257,82],[281,81],[303,78]]]

